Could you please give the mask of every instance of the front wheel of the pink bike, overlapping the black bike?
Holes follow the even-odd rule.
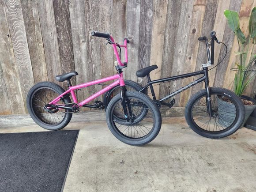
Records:
[[[118,123],[114,117],[117,110],[119,110],[119,113],[123,112],[123,108],[121,107],[121,96],[118,94],[109,102],[106,110],[106,120],[109,129],[117,139],[126,144],[133,146],[145,145],[151,142],[160,131],[162,124],[161,113],[158,106],[151,100],[151,98],[143,93],[127,91],[126,98],[129,99],[131,103],[132,117],[134,118],[133,121],[131,121],[130,124],[124,125]],[[132,105],[132,103],[143,103],[143,105],[140,105],[139,107],[145,107],[148,110],[143,118],[141,118],[141,111],[144,110],[141,110],[140,108],[138,109],[138,106]],[[128,114],[128,117],[130,117],[130,114]]]

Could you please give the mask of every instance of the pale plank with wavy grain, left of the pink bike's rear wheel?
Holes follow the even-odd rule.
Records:
[[[5,6],[12,47],[14,50],[15,65],[19,74],[16,77],[16,80],[20,82],[22,93],[22,97],[19,99],[23,100],[26,110],[26,94],[30,87],[34,85],[34,77],[26,39],[23,12],[20,1],[6,0]]]

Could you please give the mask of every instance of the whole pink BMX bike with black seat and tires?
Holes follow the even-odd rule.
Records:
[[[106,109],[106,121],[110,131],[117,139],[129,145],[139,146],[151,142],[160,131],[162,118],[158,106],[151,98],[143,93],[127,91],[125,88],[122,70],[127,67],[128,63],[128,39],[124,39],[124,45],[119,45],[107,33],[92,31],[91,35],[106,38],[107,43],[113,46],[118,62],[117,74],[76,86],[72,86],[70,79],[78,75],[77,72],[57,75],[55,78],[57,81],[66,80],[68,82],[68,90],[64,90],[52,82],[37,83],[27,94],[27,109],[30,116],[42,128],[59,130],[70,122],[73,113],[79,113],[81,107],[104,109],[105,106],[100,101],[96,101],[94,105],[87,103],[113,87],[120,86],[120,94],[109,102]],[[124,48],[124,63],[120,60],[117,47],[119,47],[120,53],[121,47]],[[115,81],[89,98],[81,102],[77,101],[75,90],[111,80]]]

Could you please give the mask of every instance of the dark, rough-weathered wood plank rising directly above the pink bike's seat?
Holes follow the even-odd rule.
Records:
[[[53,11],[60,56],[60,72],[75,71],[68,0],[53,0]],[[75,78],[72,78],[71,82],[75,84]]]

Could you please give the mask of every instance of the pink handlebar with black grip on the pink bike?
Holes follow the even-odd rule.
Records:
[[[114,53],[115,53],[115,55],[117,57],[118,64],[120,66],[122,66],[122,67],[127,65],[127,63],[128,63],[127,43],[130,42],[127,38],[124,38],[124,45],[119,45],[119,44],[115,43],[113,37],[110,34],[108,34],[108,33],[92,31],[91,35],[94,36],[94,37],[106,38],[108,40],[107,43],[111,44],[113,49],[114,49]],[[125,54],[125,62],[124,63],[122,63],[121,60],[120,60],[119,53],[117,51],[117,46],[120,48],[120,50],[121,50],[121,47],[124,47],[124,54]]]

